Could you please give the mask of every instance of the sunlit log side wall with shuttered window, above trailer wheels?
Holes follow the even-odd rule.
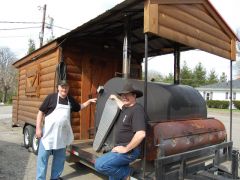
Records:
[[[59,49],[30,61],[19,68],[17,102],[14,100],[14,122],[35,125],[38,108],[44,98],[55,92],[55,73]],[[16,112],[15,112],[16,111]],[[15,115],[16,114],[16,115]]]

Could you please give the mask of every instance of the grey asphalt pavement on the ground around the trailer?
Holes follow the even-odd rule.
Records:
[[[215,117],[223,122],[230,139],[229,112],[208,110],[209,117]],[[21,127],[12,128],[12,107],[0,105],[0,180],[34,180],[36,175],[36,156],[23,147]],[[240,112],[233,112],[232,140],[235,149],[240,149]],[[51,164],[51,158],[50,162]],[[47,178],[50,176],[50,165]],[[64,180],[100,180],[107,179],[94,170],[79,164],[65,163],[62,174]]]

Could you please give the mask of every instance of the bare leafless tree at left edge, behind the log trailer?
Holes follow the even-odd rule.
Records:
[[[0,91],[2,92],[2,102],[7,101],[7,95],[12,90],[16,90],[16,70],[12,63],[16,57],[9,48],[0,48]]]

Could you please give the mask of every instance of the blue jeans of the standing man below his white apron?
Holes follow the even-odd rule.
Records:
[[[37,176],[36,180],[46,180],[48,159],[53,155],[51,179],[58,179],[63,172],[66,159],[66,148],[45,150],[40,140],[37,157]]]

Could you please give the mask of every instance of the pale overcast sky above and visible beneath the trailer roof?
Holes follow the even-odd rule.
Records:
[[[95,18],[112,8],[122,0],[7,0],[0,6],[0,47],[8,47],[17,58],[26,55],[28,40],[35,41],[39,47],[39,33],[43,18],[43,6],[47,5],[46,23],[54,19],[53,29],[45,28],[44,39],[59,37],[83,23]],[[210,0],[230,28],[236,32],[240,27],[239,0]],[[8,23],[6,23],[8,22]],[[11,22],[11,23],[10,23]],[[25,22],[25,23],[17,23]],[[33,22],[33,23],[26,23]],[[25,29],[22,29],[25,28]],[[200,50],[181,53],[181,66],[186,61],[193,69],[199,62],[207,72],[215,70],[220,76],[222,72],[228,75],[230,62],[224,58],[202,52]],[[234,63],[233,63],[234,64]],[[149,69],[162,75],[173,73],[173,55],[167,55],[149,60]]]

